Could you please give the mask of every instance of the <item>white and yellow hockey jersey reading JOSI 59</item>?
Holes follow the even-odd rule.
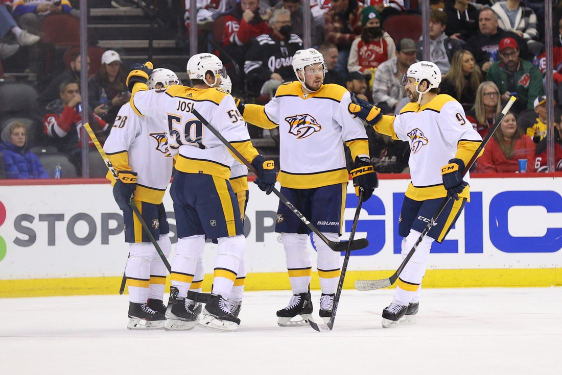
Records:
[[[138,86],[143,88],[143,85],[135,85],[132,107],[140,116],[167,116],[169,144],[171,148],[178,150],[178,155],[175,156],[176,170],[205,173],[226,180],[230,178],[233,155],[193,115],[193,108],[248,161],[251,162],[258,155],[234,99],[224,90],[170,86],[164,94],[158,94],[154,90],[139,91]]]

